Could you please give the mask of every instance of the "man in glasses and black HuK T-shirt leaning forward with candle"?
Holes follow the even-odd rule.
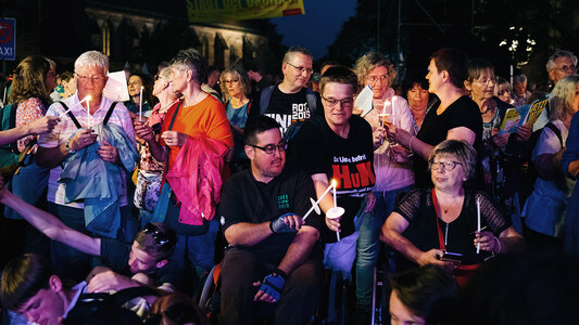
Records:
[[[326,243],[326,268],[345,280],[352,277],[360,222],[375,204],[372,127],[352,115],[357,87],[357,77],[350,68],[328,68],[319,81],[325,117],[314,116],[305,121],[291,142],[293,159],[312,177],[318,198],[332,179],[337,182],[337,200],[327,194],[319,202],[327,225],[322,230],[322,239]],[[332,213],[328,212],[336,206],[345,211],[341,218],[329,219]],[[336,232],[340,234],[339,242]]]

